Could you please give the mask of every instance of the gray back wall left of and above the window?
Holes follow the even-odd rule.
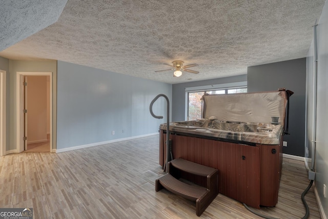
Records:
[[[222,77],[198,82],[187,82],[174,84],[172,86],[172,121],[184,121],[186,118],[186,88],[219,85],[234,82],[247,81],[247,75],[237,75],[232,77]]]

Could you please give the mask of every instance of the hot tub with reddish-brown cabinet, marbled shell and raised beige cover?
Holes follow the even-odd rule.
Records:
[[[204,95],[200,120],[169,126],[173,158],[219,170],[219,192],[251,207],[275,206],[282,168],[285,109],[292,93]],[[167,124],[159,126],[159,164],[166,161]],[[201,186],[194,175],[186,178]]]

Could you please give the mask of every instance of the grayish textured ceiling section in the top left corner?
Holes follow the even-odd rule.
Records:
[[[1,0],[0,51],[55,23],[67,0]]]

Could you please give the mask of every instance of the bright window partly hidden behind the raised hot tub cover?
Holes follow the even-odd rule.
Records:
[[[228,93],[246,93],[246,87],[226,88],[217,90],[188,91],[188,117],[187,120],[198,120],[202,112],[202,95],[208,94],[228,94]]]

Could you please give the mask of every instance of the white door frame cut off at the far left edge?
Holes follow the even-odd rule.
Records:
[[[0,156],[6,155],[6,74],[0,70]]]

